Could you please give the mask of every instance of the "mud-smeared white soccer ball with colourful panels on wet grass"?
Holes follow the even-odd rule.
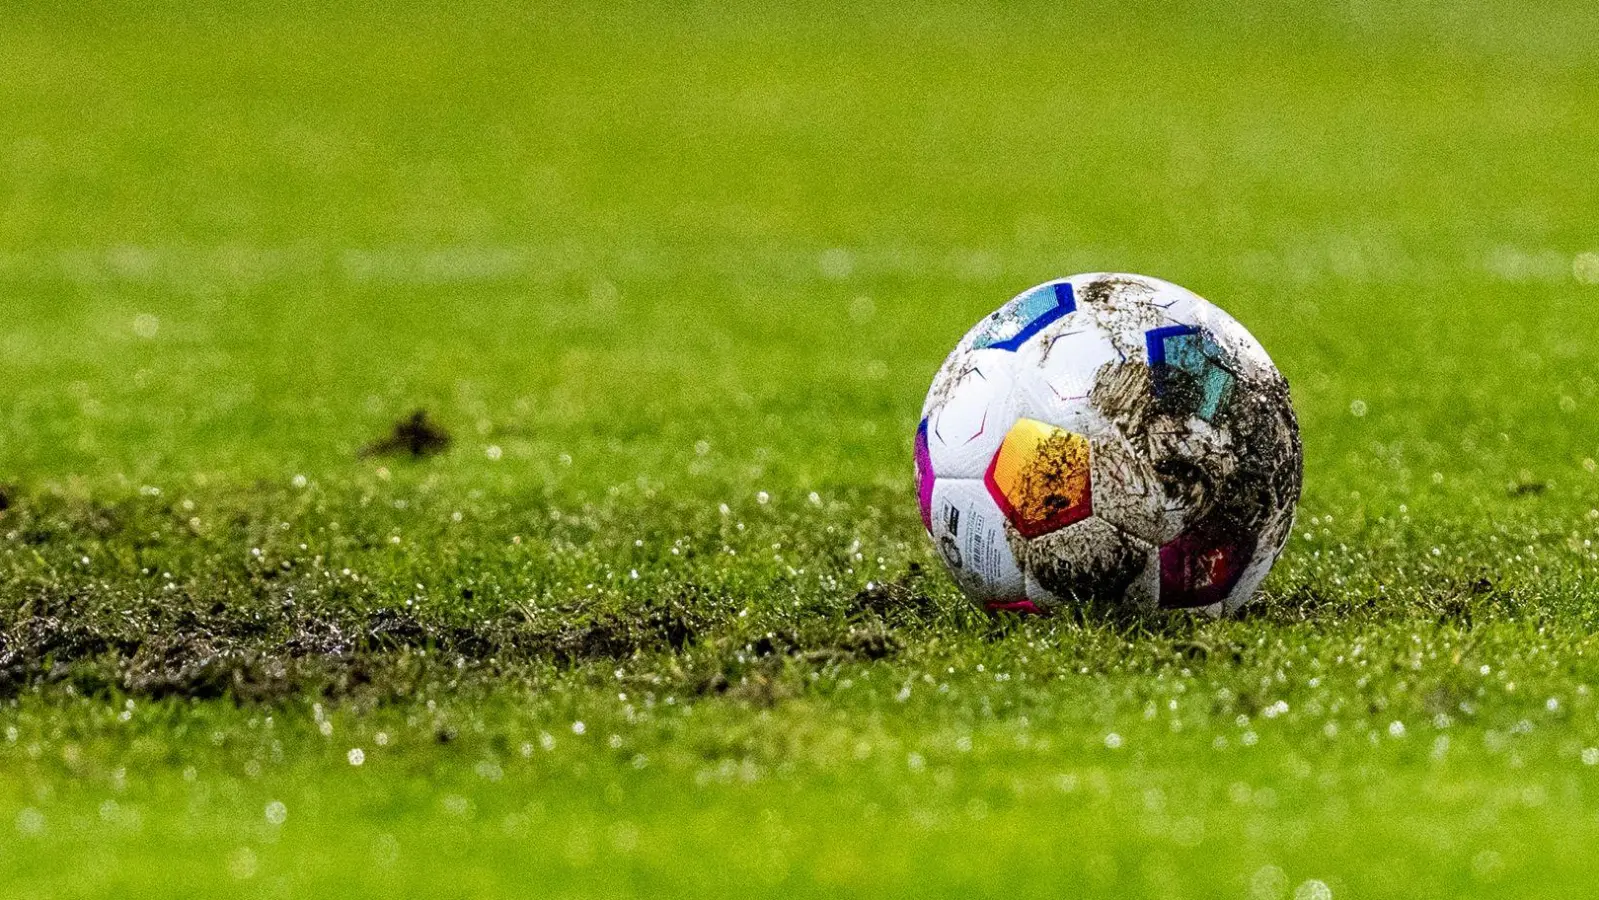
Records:
[[[916,427],[923,524],[993,611],[1254,595],[1294,526],[1289,387],[1238,321],[1142,275],[1075,275],[961,339]]]

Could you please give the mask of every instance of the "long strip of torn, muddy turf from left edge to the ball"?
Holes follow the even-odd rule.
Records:
[[[109,612],[43,593],[0,612],[0,699],[26,691],[272,703],[299,695],[389,702],[465,678],[640,657],[675,660],[681,687],[756,703],[787,695],[796,673],[899,654],[897,631],[940,615],[921,572],[873,585],[843,615],[750,633],[726,598],[694,588],[628,609],[521,609],[467,619],[368,612],[267,596],[241,603],[152,598]],[[267,595],[273,588],[265,590]]]

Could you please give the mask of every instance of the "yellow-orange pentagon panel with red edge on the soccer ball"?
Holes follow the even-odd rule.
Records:
[[[1049,422],[1017,419],[983,481],[1023,537],[1049,534],[1094,515],[1089,440]]]

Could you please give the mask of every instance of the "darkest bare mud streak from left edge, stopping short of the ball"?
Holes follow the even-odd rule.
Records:
[[[707,623],[694,596],[632,611],[555,614],[540,627],[520,612],[481,620],[425,619],[398,609],[368,614],[208,609],[130,609],[93,615],[70,598],[0,625],[0,697],[48,684],[80,694],[230,697],[272,702],[305,692],[393,695],[395,673],[416,660],[453,671],[576,667],[644,652],[681,652]],[[413,665],[416,663],[416,665]],[[384,681],[384,683],[379,683]]]

